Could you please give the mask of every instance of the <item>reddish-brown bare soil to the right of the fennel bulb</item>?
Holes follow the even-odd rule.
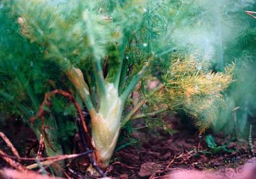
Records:
[[[239,173],[242,166],[252,159],[248,141],[230,142],[228,149],[233,152],[206,154],[210,151],[205,143],[205,136],[198,137],[197,132],[179,129],[173,136],[163,133],[153,136],[146,132],[136,132],[140,147],[127,147],[114,154],[113,169],[109,176],[115,178],[158,178],[172,173],[173,170],[196,169]],[[224,145],[229,137],[213,135],[218,145]],[[253,142],[254,149],[256,142]],[[193,151],[193,152],[190,152]],[[190,153],[189,153],[190,152]],[[256,176],[255,176],[256,177]]]

